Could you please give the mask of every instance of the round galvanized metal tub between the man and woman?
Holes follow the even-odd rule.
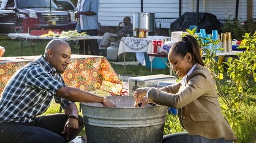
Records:
[[[109,96],[117,107],[81,103],[87,141],[93,143],[162,142],[166,106],[133,107],[133,96]]]

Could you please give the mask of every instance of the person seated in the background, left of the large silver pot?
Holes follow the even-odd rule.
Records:
[[[119,22],[119,25],[116,29],[116,34],[105,33],[102,37],[99,47],[109,47],[111,37],[123,37],[126,36],[127,33],[132,32],[132,30],[133,24],[131,23],[131,18],[129,16],[125,16],[123,18],[123,22]]]

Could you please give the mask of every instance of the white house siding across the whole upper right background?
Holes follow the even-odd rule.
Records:
[[[253,18],[256,18],[256,0],[253,1]],[[182,0],[181,14],[196,12],[197,0]],[[203,4],[205,4],[203,6]],[[133,12],[140,12],[140,0],[99,0],[99,22],[101,25],[117,26],[124,16],[133,19]],[[169,28],[179,17],[178,0],[143,0],[143,12],[155,13],[157,27]],[[236,0],[200,0],[199,12],[208,12],[223,20],[236,14]],[[239,0],[238,18],[246,20],[247,0]]]

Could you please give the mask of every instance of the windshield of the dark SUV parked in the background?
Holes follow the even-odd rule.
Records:
[[[50,2],[52,9],[58,9],[58,7],[51,0],[18,0],[17,7],[23,8],[50,8]]]

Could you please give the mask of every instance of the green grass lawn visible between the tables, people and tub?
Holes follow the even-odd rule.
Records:
[[[40,41],[35,45],[35,53],[36,55],[44,54],[45,47],[47,45],[48,41]],[[20,49],[19,41],[18,40],[11,40],[7,36],[0,36],[0,46],[3,46],[6,51],[4,56],[17,56]],[[74,52],[76,52],[74,50]],[[126,53],[126,61],[134,61],[134,53]],[[31,48],[26,48],[24,49],[22,56],[24,55],[33,55],[32,49]],[[123,61],[123,55],[120,55],[120,58],[118,62]],[[143,76],[143,75],[154,75],[154,74],[169,74],[169,69],[166,68],[164,70],[156,70],[154,69],[153,72],[150,71],[150,69],[146,68],[145,66],[141,65],[126,65],[126,69],[124,69],[123,65],[118,65],[116,64],[115,61],[109,61],[115,70],[115,72],[121,76]],[[248,82],[249,83],[249,82]],[[254,82],[253,82],[254,83]],[[252,83],[252,85],[253,85]],[[249,83],[250,84],[250,83]],[[98,95],[103,95],[99,93]],[[248,98],[249,99],[249,98]],[[221,105],[223,105],[222,100],[220,100]],[[255,97],[252,97],[250,102],[255,103]],[[79,103],[76,103],[77,107],[79,107]],[[52,101],[50,107],[48,110],[44,113],[44,115],[52,114],[52,113],[58,113],[59,112],[59,104],[56,104],[54,100]],[[239,138],[239,143],[242,142],[250,142],[254,143],[256,134],[255,134],[255,105],[245,107],[241,107],[243,110],[242,112],[242,117],[244,118],[244,121],[246,122],[241,122],[239,125],[236,125],[236,129],[234,130],[237,137]],[[62,110],[63,112],[63,110]],[[82,115],[82,113],[79,113]],[[171,127],[171,128],[170,128]],[[164,134],[169,134],[169,133],[175,133],[175,132],[183,132],[184,130],[182,129],[181,125],[179,124],[179,120],[176,117],[173,117],[172,115],[167,115],[166,116],[166,122],[165,122],[165,128],[164,128]],[[85,130],[83,130],[79,135],[85,135]]]

